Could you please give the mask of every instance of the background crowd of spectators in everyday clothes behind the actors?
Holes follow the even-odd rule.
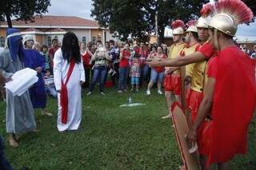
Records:
[[[30,38],[29,40],[26,40]],[[30,51],[34,55],[41,54],[44,62],[42,75],[47,79],[54,75],[54,53],[62,47],[58,39],[52,40],[52,45],[40,45],[34,42],[33,36],[25,35],[23,44],[30,41]],[[100,94],[106,95],[103,88],[106,83],[117,88],[117,93],[130,90],[139,91],[140,87],[146,87],[146,94],[150,95],[150,89],[157,82],[158,93],[162,94],[162,82],[165,75],[164,67],[150,68],[146,60],[166,59],[168,50],[166,44],[148,44],[134,42],[114,42],[110,40],[104,45],[98,42],[78,42],[81,53],[82,65],[85,70],[86,81],[82,89],[88,89],[87,95],[93,93],[95,85],[99,84]],[[26,48],[26,45],[24,46]],[[32,50],[33,49],[33,50]],[[37,53],[39,52],[39,53]],[[31,57],[33,58],[33,57]],[[31,59],[35,60],[35,59]],[[29,67],[29,66],[28,66]],[[108,79],[110,78],[110,81]],[[46,85],[46,89],[49,86]],[[52,89],[54,90],[54,89]],[[51,91],[49,91],[51,92]],[[53,97],[54,92],[50,93]]]

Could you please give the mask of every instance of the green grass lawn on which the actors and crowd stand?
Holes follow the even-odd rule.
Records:
[[[119,108],[130,95],[134,102],[146,105]],[[5,107],[2,102],[0,132],[6,139]],[[14,168],[178,169],[182,164],[170,120],[161,119],[167,113],[165,97],[155,90],[150,97],[145,90],[118,94],[114,89],[106,89],[106,96],[99,95],[98,89],[89,97],[83,95],[78,132],[58,132],[55,99],[49,98],[48,110],[54,117],[35,113],[40,132],[23,135],[18,148],[10,148],[6,142],[6,156]],[[256,169],[255,130],[254,121],[249,152],[236,157],[232,169]]]

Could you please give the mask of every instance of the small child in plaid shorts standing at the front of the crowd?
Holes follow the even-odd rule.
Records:
[[[141,70],[140,70],[140,64],[138,61],[138,56],[134,54],[133,60],[131,61],[131,65],[130,65],[130,84],[131,84],[130,91],[134,91],[134,85],[136,85],[136,91],[138,92],[140,73],[141,73]]]

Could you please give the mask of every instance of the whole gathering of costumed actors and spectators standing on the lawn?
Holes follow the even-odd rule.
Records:
[[[245,15],[238,13],[237,6]],[[99,93],[105,96],[106,84],[116,87],[117,93],[126,93],[130,84],[131,91],[145,86],[146,95],[150,95],[157,83],[159,95],[162,87],[165,89],[170,110],[162,118],[172,118],[171,110],[177,103],[186,113],[190,128],[186,139],[198,144],[201,168],[215,163],[219,169],[229,169],[235,154],[246,153],[248,126],[256,105],[256,46],[250,52],[233,40],[237,25],[252,18],[242,1],[208,3],[198,20],[171,23],[174,44],[170,48],[137,41],[85,44],[68,32],[62,45],[53,39],[47,49],[36,45],[30,35],[22,42],[18,30],[8,29],[6,49],[0,55],[2,75],[11,81],[13,73],[29,67],[39,78],[20,97],[6,89],[10,146],[18,146],[16,134],[37,131],[34,109],[52,115],[46,112],[47,88],[58,97],[58,131],[66,132],[80,125],[82,88],[88,89],[86,95],[92,95],[99,84]],[[52,82],[46,85],[50,78]],[[186,167],[185,159],[184,164]]]

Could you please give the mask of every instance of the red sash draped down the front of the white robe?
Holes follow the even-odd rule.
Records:
[[[61,89],[61,97],[60,97],[61,106],[62,106],[62,124],[66,124],[66,122],[67,122],[67,112],[68,112],[68,103],[69,103],[68,99],[69,99],[69,97],[67,95],[66,84],[70,79],[70,75],[71,75],[71,73],[74,69],[74,64],[75,64],[75,61],[72,58],[71,61],[70,61],[69,70],[67,71],[65,83],[63,83],[63,80],[62,80],[62,89]]]

